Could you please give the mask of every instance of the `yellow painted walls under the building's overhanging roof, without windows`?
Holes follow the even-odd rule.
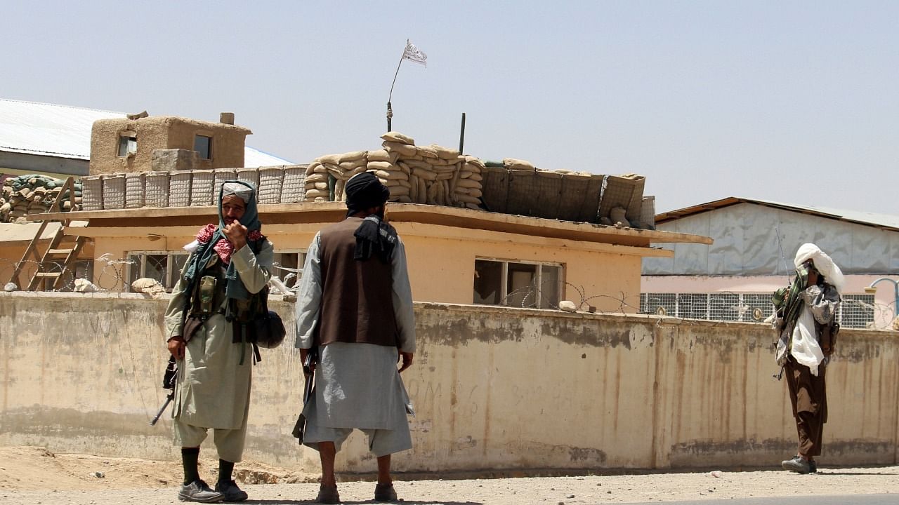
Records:
[[[264,226],[263,232],[274,244],[276,253],[305,251],[323,226],[271,225]],[[414,223],[398,223],[396,228],[405,243],[413,297],[418,301],[473,303],[475,261],[495,259],[562,265],[563,298],[579,303],[583,298],[579,290],[583,289],[584,297],[594,297],[584,307],[596,306],[602,312],[636,312],[640,305],[641,257],[604,252],[606,244]],[[193,240],[190,234],[198,229],[199,226],[159,228],[153,231],[161,237],[157,240],[147,236],[149,229],[122,229],[118,233],[138,236],[95,236],[95,252],[98,257],[108,253],[109,257],[119,259],[133,251],[180,251]],[[109,276],[113,272],[114,269],[98,264],[94,268],[94,282],[103,288],[118,289],[111,284]],[[628,305],[623,306],[622,299]]]

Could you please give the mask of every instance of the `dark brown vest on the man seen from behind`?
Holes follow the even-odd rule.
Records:
[[[360,342],[396,346],[391,265],[372,255],[352,258],[353,235],[362,220],[347,217],[320,233],[322,306],[316,328],[318,343]]]

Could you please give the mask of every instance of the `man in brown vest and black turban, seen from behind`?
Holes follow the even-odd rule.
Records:
[[[399,376],[415,351],[405,248],[383,221],[389,190],[377,177],[360,173],[344,191],[347,217],[309,245],[298,293],[297,347],[304,360],[313,346],[319,356],[303,444],[321,457],[317,501],[339,503],[334,455],[362,430],[378,457],[375,501],[396,501],[390,455],[412,448],[412,408]]]

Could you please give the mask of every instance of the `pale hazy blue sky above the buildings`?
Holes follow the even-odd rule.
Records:
[[[899,215],[899,2],[4,2],[0,97],[218,120],[294,163],[416,144]]]

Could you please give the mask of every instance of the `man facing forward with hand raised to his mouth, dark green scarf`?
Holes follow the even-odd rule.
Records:
[[[267,295],[273,249],[262,234],[252,184],[228,181],[218,226],[200,229],[165,312],[168,350],[177,360],[173,429],[182,447],[181,501],[245,501],[231,478],[241,460],[250,408],[254,336],[246,323]],[[200,479],[200,443],[212,429],[218,449],[215,490]]]

